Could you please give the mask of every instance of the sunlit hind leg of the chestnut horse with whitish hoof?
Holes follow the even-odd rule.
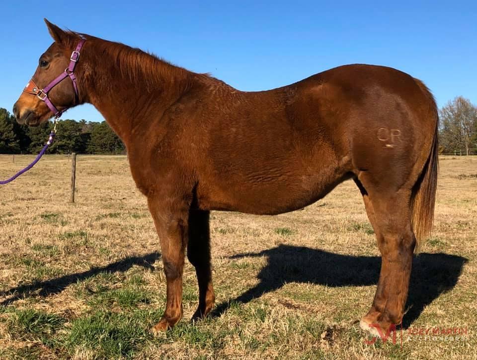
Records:
[[[356,180],[366,211],[375,229],[381,252],[381,271],[373,304],[361,318],[360,327],[379,335],[400,324],[407,299],[412,256],[416,239],[411,226],[411,190],[373,191],[374,187]]]

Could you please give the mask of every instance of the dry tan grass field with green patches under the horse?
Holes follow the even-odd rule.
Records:
[[[0,156],[0,179],[33,156]],[[159,239],[124,156],[46,156],[0,186],[1,359],[476,359],[477,157],[442,157],[435,227],[413,264],[397,344],[365,344],[380,258],[352,181],[303,211],[213,212],[216,309],[154,338],[165,304]],[[418,336],[459,328],[463,341]],[[463,330],[464,331],[464,330]],[[402,346],[400,336],[403,336]]]

